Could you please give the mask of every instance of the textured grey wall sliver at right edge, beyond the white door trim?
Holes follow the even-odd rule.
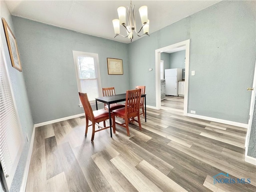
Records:
[[[256,96],[254,103],[254,112],[252,117],[252,128],[248,144],[248,156],[256,158]]]

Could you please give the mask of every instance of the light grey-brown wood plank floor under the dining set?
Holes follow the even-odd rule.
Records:
[[[147,108],[142,131],[117,126],[85,138],[85,119],[36,128],[26,191],[256,191],[256,166],[244,162],[246,129],[182,116],[183,100]],[[214,184],[213,176],[250,178]],[[221,176],[220,176],[221,178]]]

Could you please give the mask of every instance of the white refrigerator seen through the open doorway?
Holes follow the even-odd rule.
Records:
[[[178,81],[182,80],[182,69],[164,70],[166,95],[178,96]]]

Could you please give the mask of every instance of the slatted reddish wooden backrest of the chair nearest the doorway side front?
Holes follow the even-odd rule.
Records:
[[[141,91],[139,89],[126,90],[125,113],[128,116],[140,113]]]

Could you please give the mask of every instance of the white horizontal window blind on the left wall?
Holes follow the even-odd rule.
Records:
[[[0,161],[7,186],[10,189],[24,140],[16,116],[2,50],[0,56]]]

